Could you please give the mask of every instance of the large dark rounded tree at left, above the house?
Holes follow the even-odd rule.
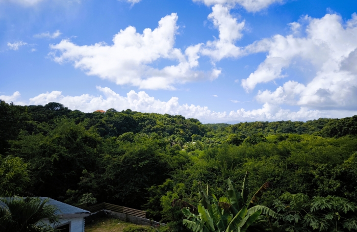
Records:
[[[62,119],[46,135],[22,133],[9,142],[11,154],[31,163],[30,191],[58,198],[78,187],[84,169],[95,169],[101,139],[82,125]]]

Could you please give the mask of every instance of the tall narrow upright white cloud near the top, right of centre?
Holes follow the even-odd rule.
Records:
[[[214,27],[219,30],[219,39],[208,41],[202,47],[200,53],[211,57],[214,61],[241,55],[242,51],[235,45],[235,42],[242,38],[245,22],[238,22],[238,19],[230,14],[229,7],[219,4],[212,7],[212,13],[208,18],[213,21]]]

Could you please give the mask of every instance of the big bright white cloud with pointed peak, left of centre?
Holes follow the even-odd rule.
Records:
[[[174,48],[177,15],[172,13],[159,21],[155,30],[145,29],[142,34],[134,27],[120,30],[113,38],[113,45],[104,42],[79,46],[69,40],[50,45],[58,51],[54,61],[72,62],[88,75],[97,75],[118,85],[138,86],[141,89],[174,89],[175,84],[191,81],[214,80],[220,70],[205,73],[196,71],[201,44],[189,46],[185,52]],[[162,69],[150,66],[161,59],[172,60],[177,65]]]

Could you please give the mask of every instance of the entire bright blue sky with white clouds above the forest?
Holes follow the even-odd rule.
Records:
[[[357,115],[355,0],[0,0],[0,99],[203,123]]]

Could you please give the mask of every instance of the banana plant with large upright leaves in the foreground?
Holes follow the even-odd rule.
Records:
[[[270,183],[265,183],[248,201],[248,172],[245,175],[242,192],[234,188],[231,179],[227,179],[228,196],[220,197],[219,200],[211,192],[209,186],[203,189],[199,183],[198,214],[190,212],[190,208],[183,208],[182,212],[186,219],[183,224],[193,232],[244,232],[257,231],[257,228],[249,229],[261,215],[277,217],[277,214],[263,205],[255,205]],[[258,229],[259,231],[259,229]]]

